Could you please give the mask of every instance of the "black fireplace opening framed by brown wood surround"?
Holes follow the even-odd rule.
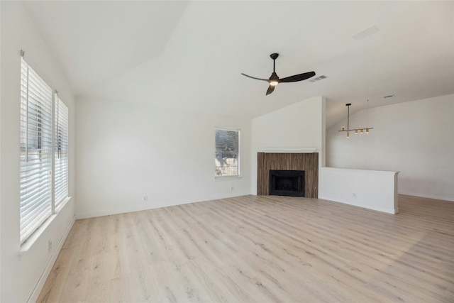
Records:
[[[270,195],[304,197],[304,170],[270,170]]]

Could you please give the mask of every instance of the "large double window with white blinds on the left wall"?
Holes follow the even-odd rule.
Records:
[[[21,243],[68,197],[69,109],[21,61]],[[53,99],[52,99],[53,97]]]

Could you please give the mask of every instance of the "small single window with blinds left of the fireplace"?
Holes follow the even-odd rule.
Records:
[[[240,130],[216,128],[215,177],[240,175]]]

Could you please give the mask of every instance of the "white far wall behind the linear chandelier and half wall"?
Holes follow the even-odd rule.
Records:
[[[354,105],[354,104],[353,104]],[[350,116],[365,126],[366,111]],[[346,115],[346,111],[345,111]],[[326,165],[399,171],[399,194],[454,201],[454,95],[369,109],[369,134],[327,130]]]

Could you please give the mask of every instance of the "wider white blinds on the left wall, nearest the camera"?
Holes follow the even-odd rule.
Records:
[[[52,214],[52,89],[21,62],[21,243]]]

